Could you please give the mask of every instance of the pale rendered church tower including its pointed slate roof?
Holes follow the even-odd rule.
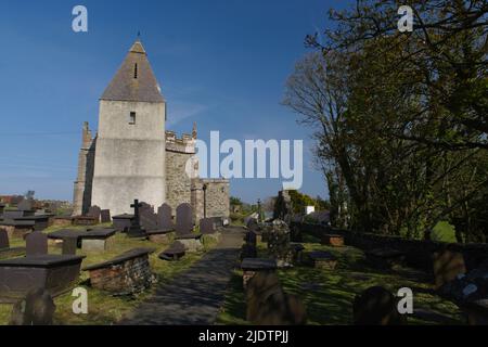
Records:
[[[130,213],[134,198],[166,200],[166,103],[137,40],[100,98],[91,205]]]

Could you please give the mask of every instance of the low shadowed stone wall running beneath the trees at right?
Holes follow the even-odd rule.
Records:
[[[488,259],[488,244],[447,244],[442,242],[406,240],[400,236],[362,233],[349,230],[331,229],[325,226],[311,223],[292,223],[301,233],[308,233],[322,240],[324,234],[334,233],[344,236],[346,245],[355,246],[363,250],[387,247],[403,252],[406,261],[413,268],[432,271],[433,255],[435,252],[449,249],[459,252],[464,256],[467,271],[477,268]]]

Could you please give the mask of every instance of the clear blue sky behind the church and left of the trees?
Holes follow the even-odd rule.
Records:
[[[221,140],[303,139],[303,192],[328,196],[311,163],[311,129],[282,106],[284,83],[346,1],[1,1],[0,194],[35,190],[72,200],[85,120],[97,129],[98,100],[141,31],[168,103],[167,128]],[[88,9],[88,33],[72,9]],[[234,179],[246,202],[275,195],[275,179]]]

